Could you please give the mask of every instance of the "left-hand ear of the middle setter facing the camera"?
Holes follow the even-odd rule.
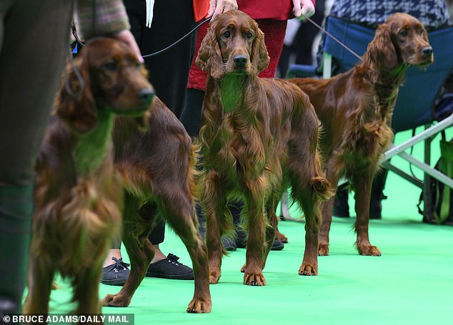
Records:
[[[223,77],[222,59],[220,54],[219,42],[216,38],[215,21],[209,26],[206,36],[201,41],[201,46],[196,56],[196,65],[202,71],[209,74],[212,78],[220,79]]]

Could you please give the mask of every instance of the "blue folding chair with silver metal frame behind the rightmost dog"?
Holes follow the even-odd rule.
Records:
[[[334,16],[327,17],[326,30],[338,41],[344,43],[347,48],[359,54],[359,56],[362,56],[367,50],[368,43],[372,41],[375,32],[374,29]],[[428,213],[431,210],[428,207],[432,205],[431,189],[429,187],[431,177],[453,188],[453,180],[451,178],[430,166],[432,139],[453,124],[451,111],[447,112],[447,116],[444,116],[444,119],[438,123],[436,123],[434,118],[434,106],[442,93],[442,86],[453,69],[453,26],[430,31],[428,37],[434,51],[434,63],[424,69],[419,67],[410,67],[408,69],[406,81],[399,88],[399,95],[392,118],[392,128],[395,133],[415,129],[421,125],[424,125],[425,130],[404,143],[392,146],[385,153],[382,162],[382,165],[387,169],[423,189],[424,213]],[[332,74],[332,58],[335,60],[335,66],[339,67],[339,73],[347,71],[357,63],[357,57],[347,48],[344,48],[333,38],[326,35],[321,67],[293,64],[288,69],[287,78],[314,77],[315,74],[320,76],[321,73],[322,78],[330,78]],[[424,162],[417,160],[417,158],[405,151],[422,141],[424,141]],[[402,159],[419,167],[424,172],[423,181],[392,165],[389,159],[394,155],[399,155]],[[341,182],[344,182],[344,180]],[[281,215],[284,219],[293,219],[289,215],[287,197],[282,198],[281,209]]]

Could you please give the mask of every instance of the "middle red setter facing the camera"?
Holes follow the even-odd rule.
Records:
[[[209,75],[200,130],[209,281],[219,282],[220,237],[234,229],[227,202],[241,200],[248,232],[244,284],[266,284],[262,269],[277,227],[275,209],[290,185],[307,220],[299,274],[316,275],[320,203],[331,191],[308,96],[288,81],[257,76],[269,63],[264,34],[242,11],[211,22],[196,63]]]

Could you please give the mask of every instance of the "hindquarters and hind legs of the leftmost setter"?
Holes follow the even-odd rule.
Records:
[[[206,245],[198,232],[194,196],[196,146],[184,126],[156,98],[149,111],[148,129],[141,133],[132,118],[117,118],[114,127],[115,165],[124,190],[123,242],[131,273],[121,291],[107,295],[104,306],[128,306],[131,296],[154,257],[148,235],[164,218],[181,237],[195,274],[191,313],[211,311]]]

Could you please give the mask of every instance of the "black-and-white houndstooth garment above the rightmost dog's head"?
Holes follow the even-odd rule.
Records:
[[[444,0],[335,0],[330,15],[377,27],[395,12],[417,17],[427,29],[449,24]]]

